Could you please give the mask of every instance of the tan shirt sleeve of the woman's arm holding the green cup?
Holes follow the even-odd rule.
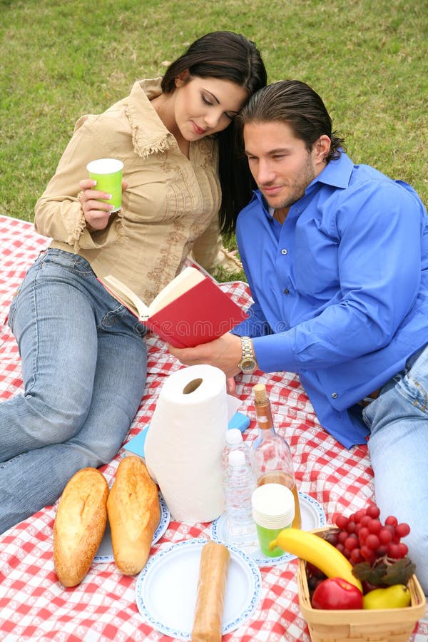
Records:
[[[103,118],[82,116],[76,123],[71,141],[58,163],[56,173],[36,203],[36,232],[67,243],[74,252],[98,249],[114,243],[120,235],[119,216],[112,215],[104,233],[91,235],[77,198],[78,183],[88,178],[86,165],[106,156],[103,141],[111,140],[111,129]]]

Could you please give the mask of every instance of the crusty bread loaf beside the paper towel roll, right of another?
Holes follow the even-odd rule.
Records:
[[[116,566],[123,575],[136,575],[146,564],[161,517],[158,487],[140,457],[121,460],[107,511]]]

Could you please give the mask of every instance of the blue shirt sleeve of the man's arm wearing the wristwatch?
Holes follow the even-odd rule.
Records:
[[[345,196],[335,216],[340,288],[316,317],[255,338],[260,368],[317,370],[387,345],[419,290],[421,210],[412,193],[392,182],[367,182]]]

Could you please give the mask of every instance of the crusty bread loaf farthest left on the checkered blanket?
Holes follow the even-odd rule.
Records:
[[[88,573],[107,523],[108,484],[96,468],[71,477],[54,522],[54,566],[63,586],[77,586]]]

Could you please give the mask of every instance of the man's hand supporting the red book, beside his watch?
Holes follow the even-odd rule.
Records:
[[[238,363],[242,358],[240,337],[226,332],[219,339],[210,343],[203,343],[193,348],[175,348],[168,345],[168,350],[173,357],[177,357],[185,365],[198,365],[205,363],[223,370],[226,377],[234,377],[240,372]]]

